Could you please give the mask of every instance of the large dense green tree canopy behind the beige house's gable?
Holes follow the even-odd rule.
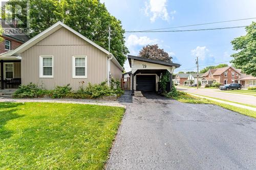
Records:
[[[109,49],[110,26],[110,52],[123,66],[129,53],[124,41],[125,31],[121,21],[112,16],[99,0],[30,0],[30,37],[57,21],[65,23],[106,50]]]

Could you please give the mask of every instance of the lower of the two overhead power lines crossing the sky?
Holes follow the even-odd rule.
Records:
[[[209,29],[194,29],[194,30],[167,30],[167,31],[125,31],[125,33],[164,33],[164,32],[190,32],[190,31],[206,31],[206,30],[224,30],[224,29],[234,29],[234,28],[244,28],[247,26],[237,26],[237,27],[222,27],[222,28],[209,28]]]

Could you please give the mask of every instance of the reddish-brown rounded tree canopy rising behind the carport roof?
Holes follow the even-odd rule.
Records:
[[[172,61],[172,57],[169,57],[168,53],[160,49],[157,44],[143,46],[142,50],[139,52],[139,56],[166,62]]]

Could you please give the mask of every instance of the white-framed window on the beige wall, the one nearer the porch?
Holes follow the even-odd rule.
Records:
[[[40,78],[53,78],[53,56],[40,56]]]

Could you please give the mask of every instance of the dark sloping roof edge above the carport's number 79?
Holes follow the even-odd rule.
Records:
[[[145,61],[145,62],[148,62],[148,63],[154,63],[154,64],[159,64],[159,65],[165,65],[165,66],[175,66],[176,68],[181,66],[180,64],[176,64],[176,63],[172,63],[172,62],[152,60],[152,59],[148,59],[148,58],[144,58],[144,57],[137,57],[137,56],[131,56],[131,55],[128,55],[127,57],[128,57],[129,64],[130,64],[131,67],[132,67],[131,59],[139,60],[139,61]]]

